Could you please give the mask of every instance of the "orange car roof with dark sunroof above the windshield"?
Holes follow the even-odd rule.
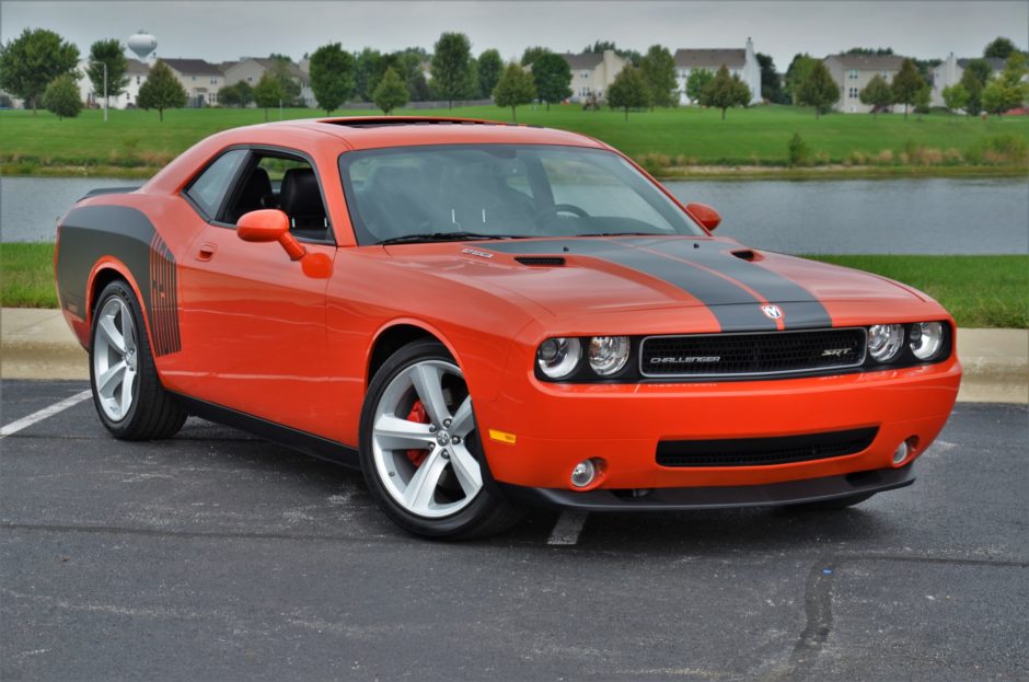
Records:
[[[593,138],[567,130],[481,118],[438,116],[350,116],[311,118],[265,124],[268,128],[309,130],[331,135],[350,149],[409,147],[416,145],[568,145],[606,148]],[[299,130],[298,130],[299,129]]]

